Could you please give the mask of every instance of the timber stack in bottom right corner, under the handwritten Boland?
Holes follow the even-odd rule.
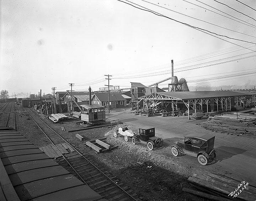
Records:
[[[194,174],[188,181],[199,190],[230,200],[251,201],[256,197],[255,186],[220,174]]]

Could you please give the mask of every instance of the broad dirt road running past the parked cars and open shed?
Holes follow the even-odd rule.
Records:
[[[256,185],[256,138],[247,136],[234,136],[217,132],[211,132],[197,125],[200,122],[207,121],[207,118],[201,120],[188,120],[187,116],[139,116],[132,113],[122,113],[111,111],[106,113],[108,119],[119,119],[120,121],[137,126],[153,126],[156,130],[156,136],[164,139],[164,146],[161,151],[167,156],[179,161],[181,165],[193,170],[201,169],[202,172],[217,172],[237,180],[246,181],[251,185]],[[134,131],[137,132],[137,131]],[[171,154],[171,145],[177,140],[183,140],[183,136],[194,134],[202,136],[211,134],[215,136],[214,148],[217,151],[217,157],[214,163],[203,166],[197,161],[197,158],[191,156],[174,157]]]

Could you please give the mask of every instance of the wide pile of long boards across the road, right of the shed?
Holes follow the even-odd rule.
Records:
[[[212,131],[231,133],[235,135],[256,134],[256,116],[242,113],[215,115],[209,121],[200,125]]]

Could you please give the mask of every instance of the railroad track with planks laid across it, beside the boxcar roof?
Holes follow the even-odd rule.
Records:
[[[25,110],[57,150],[59,149],[56,145],[59,143],[67,143],[75,150],[75,152],[62,154],[62,156],[75,172],[75,176],[82,182],[109,201],[140,201],[139,196],[132,194],[132,190],[128,186],[119,182],[116,177],[111,176],[108,169],[100,170],[96,167],[94,159],[90,155],[85,157],[32,110],[26,108]]]

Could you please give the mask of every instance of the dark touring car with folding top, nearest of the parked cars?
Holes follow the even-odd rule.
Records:
[[[207,165],[209,161],[216,157],[214,150],[215,136],[203,135],[202,137],[185,136],[184,141],[178,141],[171,146],[171,152],[174,156],[187,154],[197,157],[198,162]]]

